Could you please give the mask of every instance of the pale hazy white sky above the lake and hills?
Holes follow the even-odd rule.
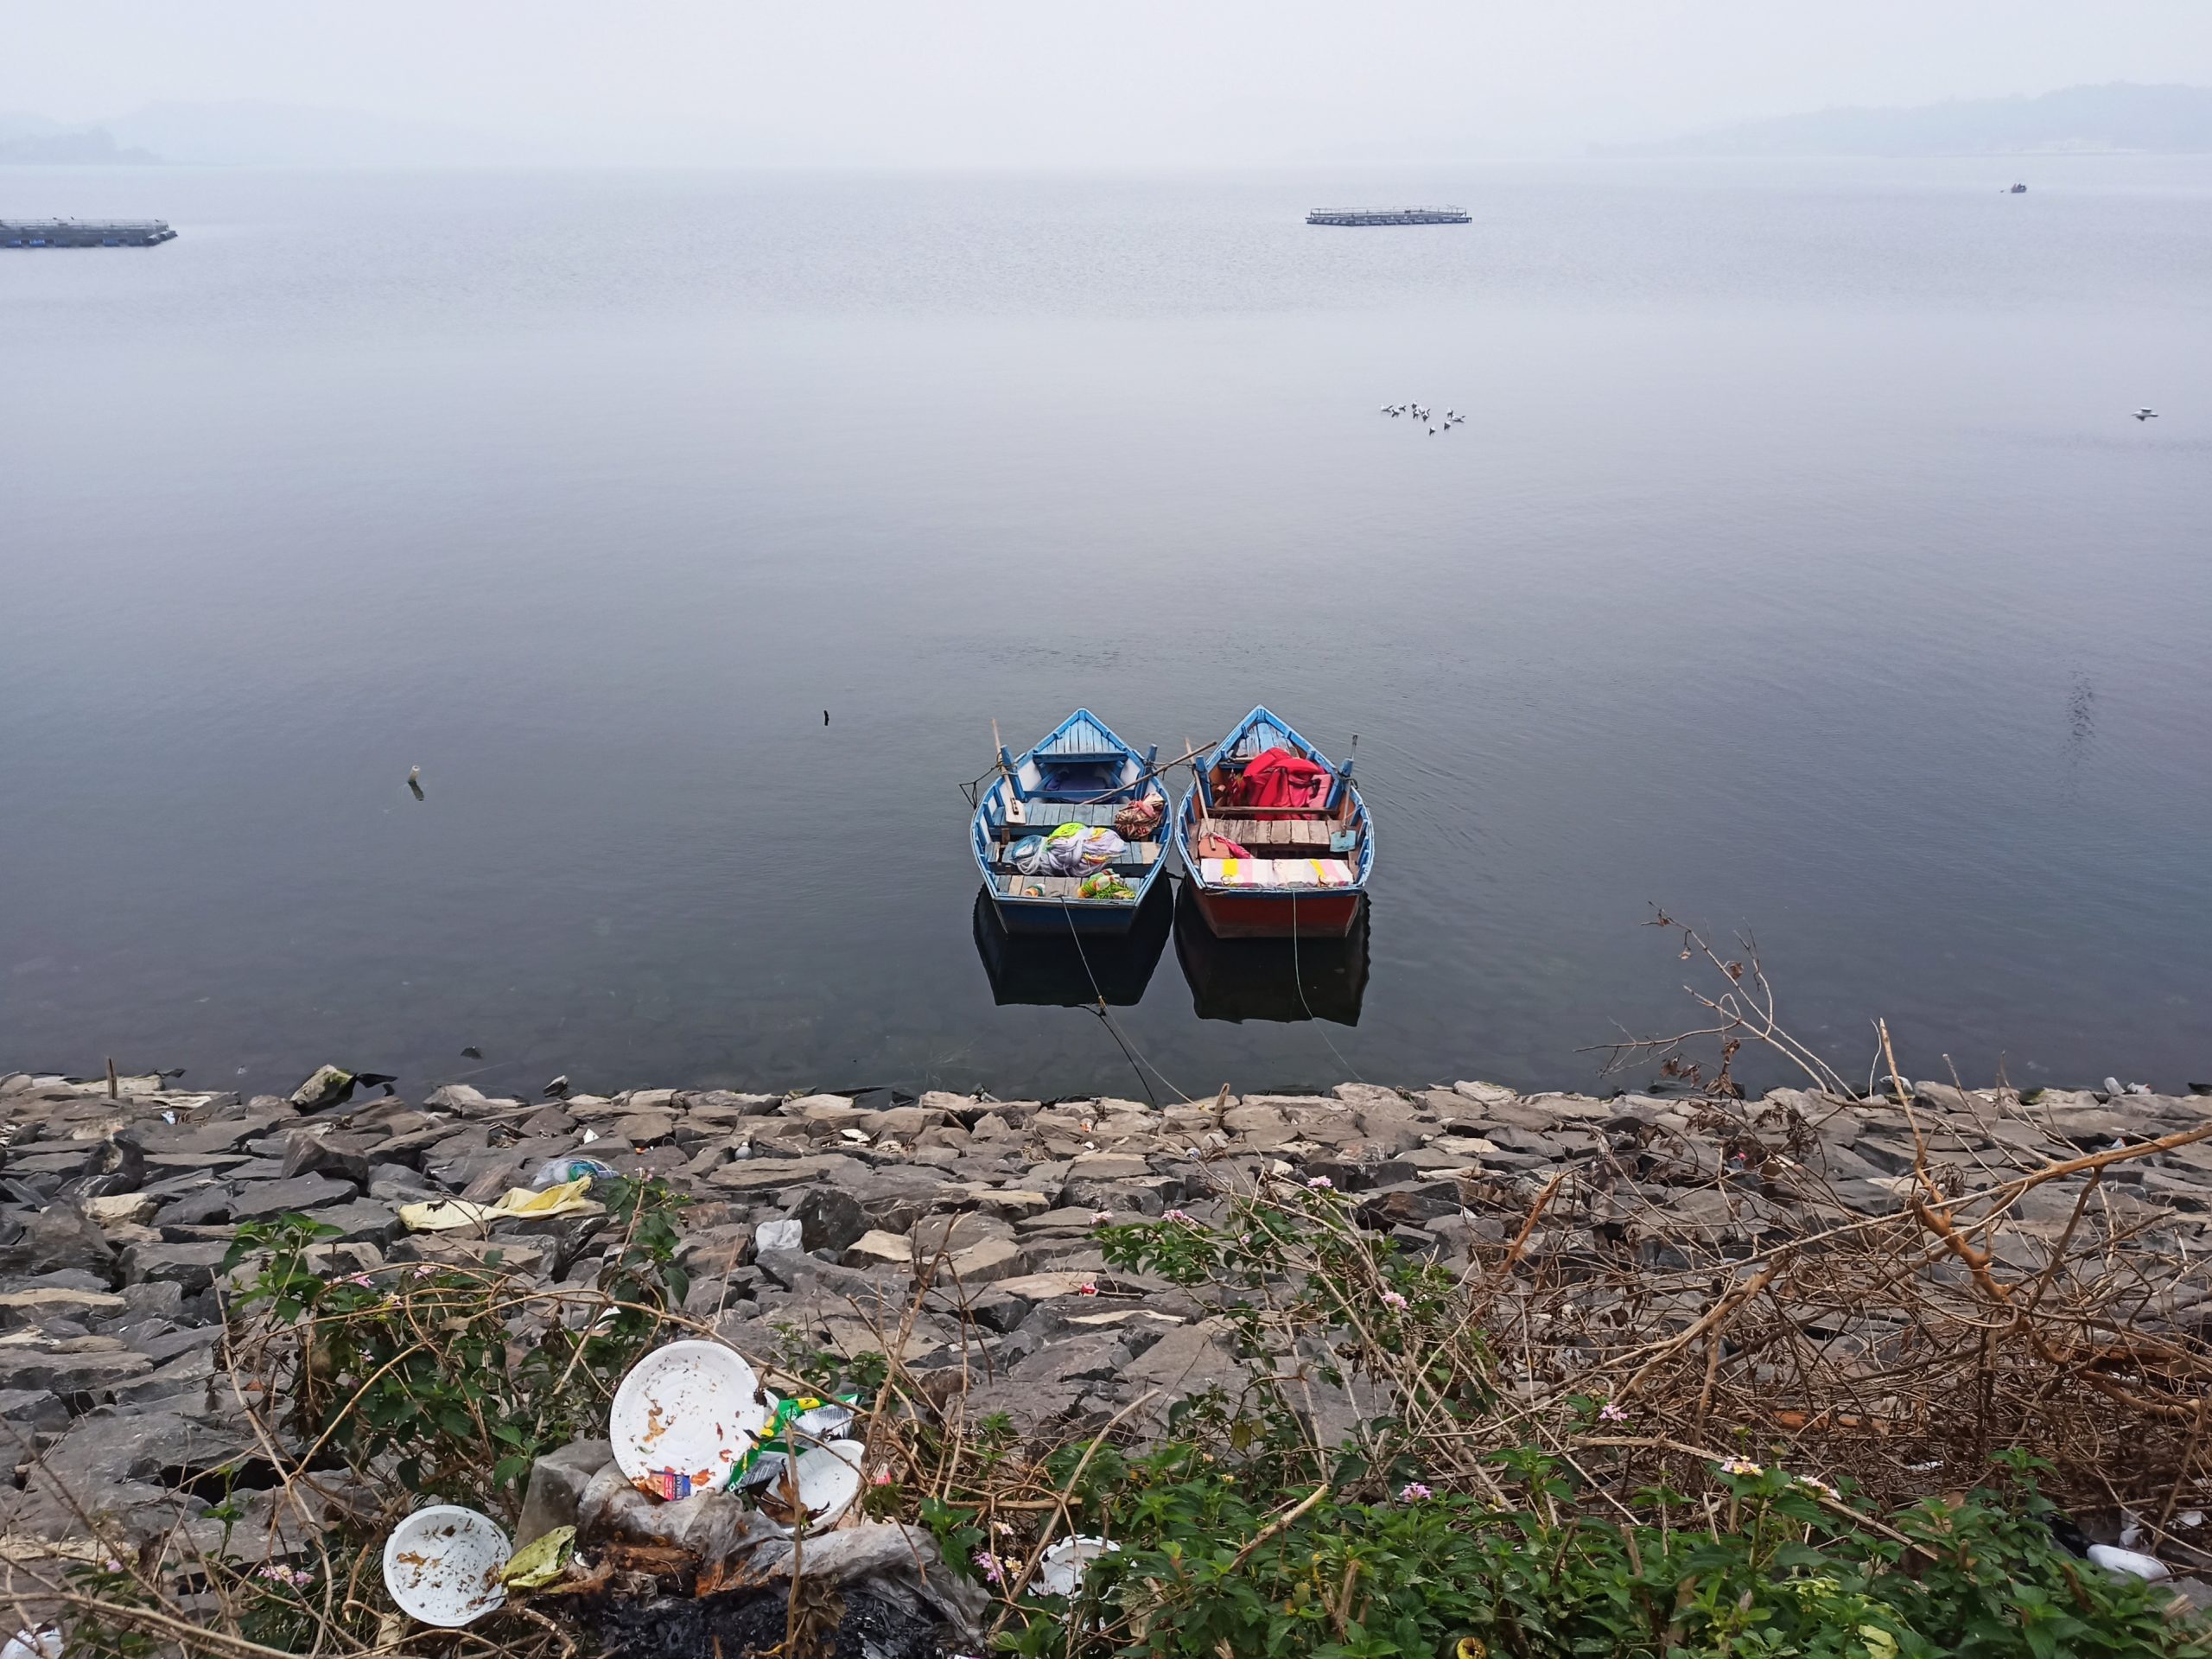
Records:
[[[2212,84],[2212,0],[0,0],[0,108],[279,100],[546,155],[1462,157]]]

